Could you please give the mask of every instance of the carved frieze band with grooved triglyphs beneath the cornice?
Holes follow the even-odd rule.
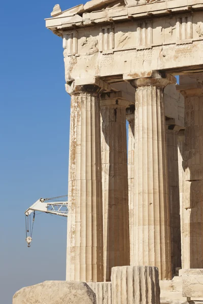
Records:
[[[65,56],[84,56],[100,52],[151,49],[171,44],[192,44],[203,39],[201,13],[115,23],[63,32]]]

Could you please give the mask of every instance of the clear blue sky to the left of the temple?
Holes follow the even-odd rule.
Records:
[[[40,214],[25,243],[24,211],[67,193],[70,97],[62,40],[45,28],[56,0],[1,2],[0,302],[20,288],[65,279],[66,222]],[[80,2],[59,2],[61,9]]]

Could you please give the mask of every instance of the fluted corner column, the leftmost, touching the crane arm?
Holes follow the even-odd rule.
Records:
[[[67,281],[104,280],[98,90],[71,92]]]

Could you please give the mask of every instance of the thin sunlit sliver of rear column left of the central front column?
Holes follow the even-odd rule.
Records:
[[[128,121],[128,205],[129,205],[129,236],[130,236],[130,260],[133,260],[134,252],[134,105],[126,109]]]

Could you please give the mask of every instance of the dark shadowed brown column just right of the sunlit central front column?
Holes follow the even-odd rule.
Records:
[[[176,268],[181,268],[181,227],[180,227],[180,196],[178,167],[178,132],[181,127],[166,121],[168,194],[170,205],[171,226],[171,257],[172,275]]]

